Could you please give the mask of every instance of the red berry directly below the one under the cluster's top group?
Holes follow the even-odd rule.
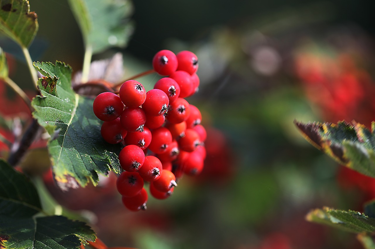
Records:
[[[190,115],[190,105],[186,99],[178,98],[168,105],[166,119],[173,124],[185,121]]]

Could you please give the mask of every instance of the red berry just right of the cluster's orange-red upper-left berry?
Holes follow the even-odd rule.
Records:
[[[142,109],[147,115],[159,116],[168,110],[169,99],[160,89],[151,89],[146,93],[146,100]]]

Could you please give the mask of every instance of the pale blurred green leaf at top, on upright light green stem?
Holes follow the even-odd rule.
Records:
[[[133,32],[129,0],[69,0],[69,5],[93,53],[109,47],[125,47]]]

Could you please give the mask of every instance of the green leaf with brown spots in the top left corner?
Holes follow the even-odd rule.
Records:
[[[38,30],[37,15],[30,12],[27,0],[0,1],[0,30],[11,39],[28,47]]]

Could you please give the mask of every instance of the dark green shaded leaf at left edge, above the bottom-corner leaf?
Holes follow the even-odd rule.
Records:
[[[0,159],[0,215],[28,217],[42,210],[29,179]]]

